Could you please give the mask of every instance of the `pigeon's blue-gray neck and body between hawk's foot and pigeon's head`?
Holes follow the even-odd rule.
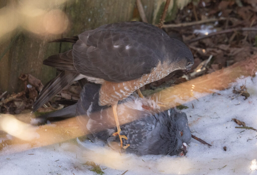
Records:
[[[179,152],[176,122],[168,110],[145,114],[140,120],[122,125],[121,134],[128,138],[124,140],[124,144],[130,144],[128,152],[138,155],[175,155]]]

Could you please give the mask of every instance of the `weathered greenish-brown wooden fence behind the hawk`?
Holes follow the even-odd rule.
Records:
[[[141,1],[148,22],[157,24],[166,0]],[[184,2],[186,5],[189,1],[191,0],[171,1],[166,21],[175,18],[177,9],[181,6],[179,3]],[[35,7],[24,8],[24,3],[28,7]],[[6,10],[7,7],[10,9]],[[134,8],[135,0],[0,1],[0,90],[8,93],[23,90],[24,84],[18,78],[21,73],[30,73],[45,84],[56,75],[56,70],[42,65],[42,61],[49,55],[72,47],[69,43],[48,43],[49,41],[74,36],[108,23],[130,21]],[[34,18],[35,14],[43,13],[42,11],[47,13],[52,9],[65,13],[69,21],[67,29],[62,34],[35,34],[37,30],[41,30],[42,23],[48,22],[43,17]],[[23,13],[27,13],[27,16],[24,17]],[[6,26],[12,23],[16,26],[12,29],[11,25],[10,31],[3,34],[8,28]],[[27,27],[34,23],[34,33],[27,31]]]

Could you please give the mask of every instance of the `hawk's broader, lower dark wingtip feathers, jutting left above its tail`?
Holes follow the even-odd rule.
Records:
[[[77,72],[72,59],[72,50],[57,55],[51,55],[43,61],[44,65],[64,71]]]

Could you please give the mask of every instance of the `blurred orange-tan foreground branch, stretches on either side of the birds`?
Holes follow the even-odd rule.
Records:
[[[251,76],[253,71],[256,72],[256,68],[257,55],[247,60],[235,63],[227,68],[167,88],[161,92],[153,94],[151,98],[164,104],[162,110],[167,110],[175,107],[178,103],[183,104],[193,101],[196,98],[201,98],[211,94],[215,90],[226,89],[230,86],[230,83],[236,81],[237,78],[241,76]],[[33,127],[29,124],[22,123],[21,121],[15,121],[13,119],[14,116],[10,114],[0,115],[0,129],[17,137],[10,140],[11,144],[8,148],[21,143],[29,143],[31,148],[41,147],[67,141],[87,134],[83,132],[84,128],[80,128],[76,118],[39,127]],[[120,124],[124,123],[121,122]],[[15,135],[17,133],[22,134]],[[24,138],[24,135],[28,137]],[[19,147],[18,149],[22,148]],[[17,149],[15,151],[17,151]]]

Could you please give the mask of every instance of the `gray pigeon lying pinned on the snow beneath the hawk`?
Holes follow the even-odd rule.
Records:
[[[99,89],[99,84],[86,84],[77,104],[48,117],[71,116],[76,112],[79,123],[91,132],[88,137],[93,142],[104,141],[113,147],[113,143],[119,144],[119,137],[112,135],[117,131],[113,111],[107,105],[98,105]],[[185,155],[191,139],[186,114],[174,109],[161,112],[154,101],[135,95],[120,101],[117,107],[119,121],[125,123],[121,125],[121,134],[128,138],[123,139],[123,146],[130,145],[125,151],[137,155]]]

